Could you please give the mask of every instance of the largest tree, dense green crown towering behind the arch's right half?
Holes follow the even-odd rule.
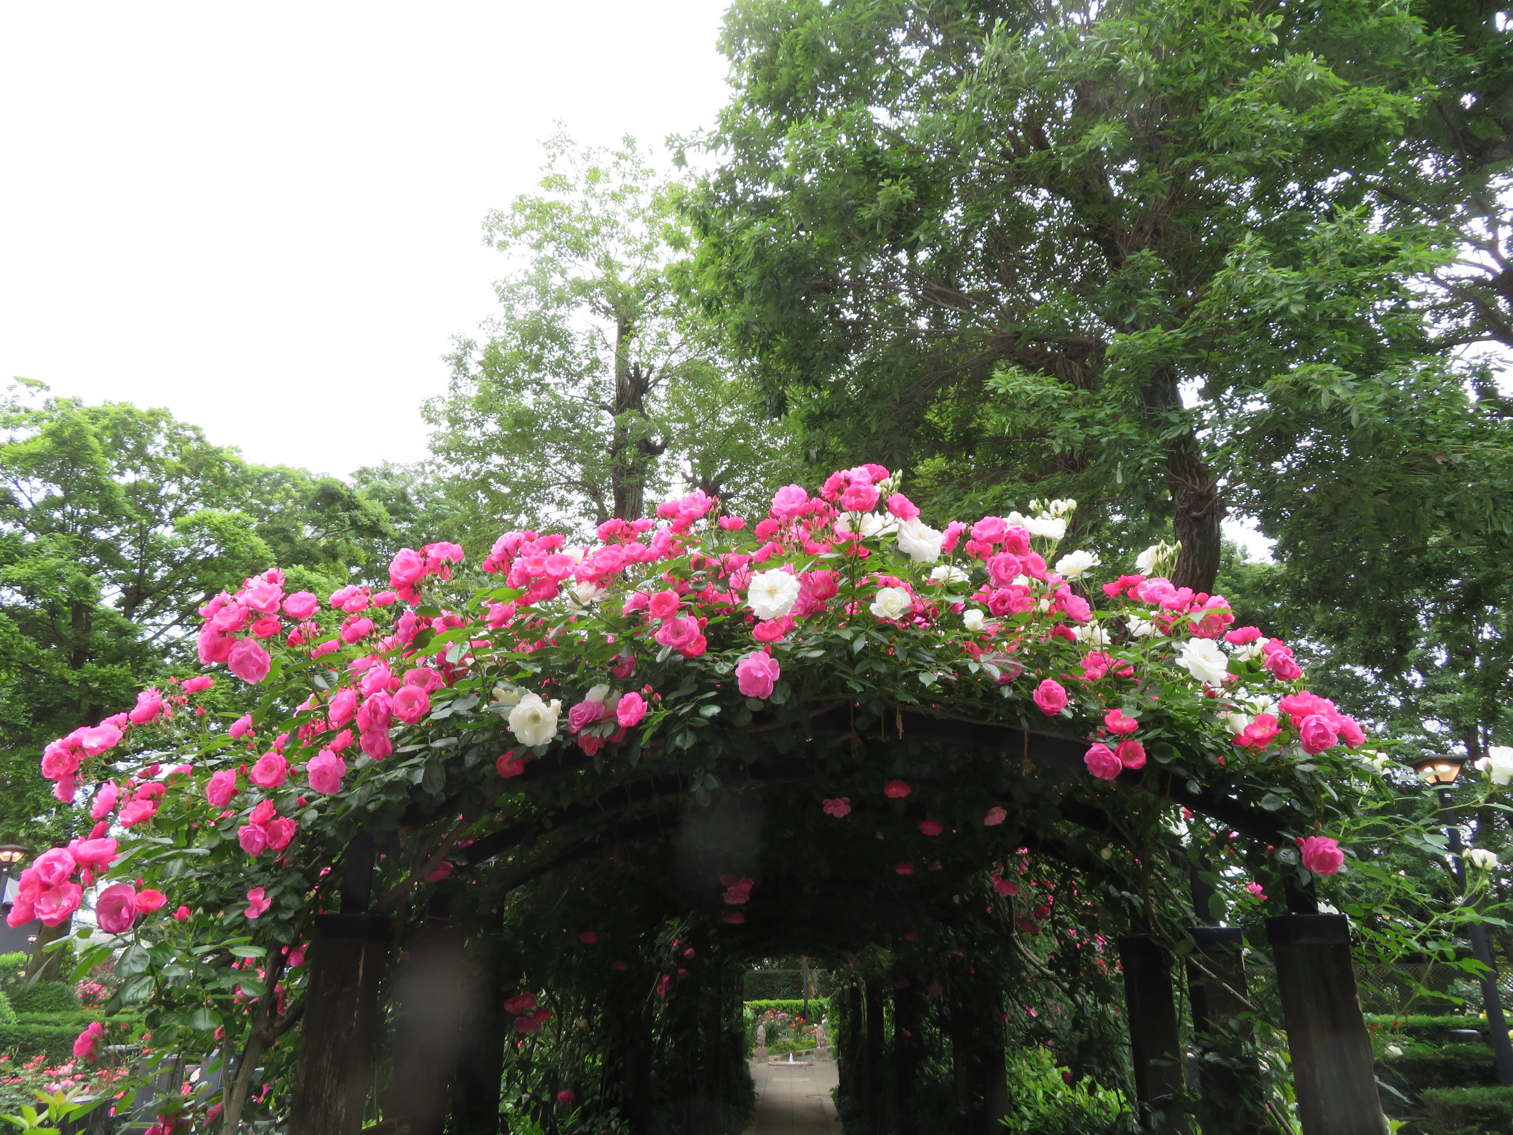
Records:
[[[1236,472],[1212,428],[1269,377],[1213,285],[1369,198],[1434,41],[1393,6],[747,0],[722,45],[696,278],[767,395],[943,505],[1170,518],[1174,578],[1210,590]],[[1381,304],[1333,330],[1380,344],[1448,253],[1416,224],[1359,244],[1321,266]],[[1392,353],[1427,344],[1396,324]]]

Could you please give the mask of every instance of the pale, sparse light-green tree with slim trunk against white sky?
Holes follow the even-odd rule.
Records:
[[[642,516],[648,490],[725,487],[782,431],[750,412],[705,328],[678,303],[687,227],[646,154],[546,142],[542,192],[486,222],[520,259],[487,339],[460,339],[425,406],[451,490],[484,524]]]

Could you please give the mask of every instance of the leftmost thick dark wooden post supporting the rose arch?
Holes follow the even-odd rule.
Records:
[[[289,1135],[357,1135],[374,1074],[387,920],[318,914]]]

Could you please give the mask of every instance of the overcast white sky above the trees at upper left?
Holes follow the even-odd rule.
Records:
[[[162,406],[248,460],[424,457],[539,141],[725,101],[726,0],[0,5],[0,378]],[[354,407],[363,407],[353,415]]]

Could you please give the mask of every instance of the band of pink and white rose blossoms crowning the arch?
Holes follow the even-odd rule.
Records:
[[[271,667],[265,643],[286,628],[284,643],[310,657],[343,646],[357,648],[360,657],[346,663],[334,689],[312,692],[290,732],[271,746],[257,745],[250,716],[236,722],[230,729],[235,742],[253,752],[268,751],[251,767],[212,773],[206,801],[216,819],[230,816],[225,810],[244,775],[265,791],[303,775],[312,793],[340,793],[353,748],[374,761],[389,757],[393,729],[427,720],[431,696],[469,672],[471,649],[533,652],[570,646],[590,634],[614,643],[619,652],[607,672],[583,675],[592,689],[566,710],[567,737],[593,755],[623,742],[658,711],[657,690],[631,681],[638,651],[643,658],[676,654],[688,661],[719,652],[719,666],[726,667],[720,672],[731,673],[734,690],[766,701],[778,690],[788,651],[802,646],[811,628],[832,620],[870,625],[885,636],[929,634],[940,640],[937,646],[955,648],[955,654],[940,654],[943,672],[935,678],[943,686],[970,681],[974,673],[1000,686],[1015,683],[1030,666],[1027,648],[1041,660],[1053,648],[1052,657],[1068,661],[1049,672],[1044,661],[1033,663],[1026,692],[1047,717],[1095,707],[1103,725],[1088,739],[1085,763],[1100,779],[1145,764],[1145,745],[1136,734],[1150,708],[1141,690],[1151,666],[1185,672],[1201,684],[1204,696],[1227,698],[1215,708],[1235,728],[1235,746],[1242,751],[1266,749],[1278,737],[1291,743],[1294,732],[1309,754],[1363,740],[1350,717],[1309,693],[1289,693],[1280,704],[1251,699],[1254,704],[1242,705],[1242,675],[1280,683],[1301,676],[1291,649],[1257,628],[1233,628],[1235,616],[1223,596],[1194,593],[1154,574],[1160,549],[1147,549],[1138,572],[1101,584],[1103,596],[1120,610],[1094,611],[1088,580],[1100,557],[1088,551],[1055,555],[1074,501],[1032,502],[1030,516],[1011,512],[952,521],[937,530],[899,492],[899,480],[884,466],[859,465],[832,474],[814,496],[802,486],[784,486],[750,536],[744,536],[744,518],[720,515],[720,502],[702,492],[658,505],[658,519],[601,524],[596,540],[584,546],[573,546],[560,533],[505,533],[481,568],[502,575],[505,586],[520,593],[489,602],[486,616],[443,610],[427,617],[413,610],[428,581],[449,580],[463,561],[463,549],[452,543],[401,549],[389,566],[389,590],[340,587],[324,604],[330,616],[322,614],[313,593],[286,593],[278,569],[250,577],[235,595],[221,593],[200,608],[203,663],[224,663],[244,681],[260,683]],[[735,548],[714,548],[710,536],[735,540]],[[887,557],[890,548],[893,557]],[[941,563],[946,557],[950,561]],[[849,571],[837,569],[846,564]],[[843,598],[847,580],[859,587],[847,589]],[[617,592],[613,607],[595,614],[595,605],[611,592]],[[558,601],[561,608],[554,610],[551,604]],[[460,649],[418,646],[430,634],[448,636],[449,643],[461,640]],[[560,692],[555,683],[548,679],[542,689]],[[57,781],[59,796],[73,796],[85,758],[118,746],[136,725],[171,716],[185,695],[209,684],[207,676],[194,678],[169,696],[147,690],[130,713],[50,745],[44,772]],[[507,710],[508,729],[522,748],[499,757],[496,769],[501,776],[517,776],[533,755],[528,751],[539,754],[558,739],[563,702],[543,692],[499,693],[499,708]],[[1250,711],[1241,713],[1247,707]],[[654,716],[649,726],[657,723]],[[95,819],[104,822],[120,807],[123,826],[150,822],[168,790],[156,775],[154,767],[141,782],[101,785],[92,805]],[[896,781],[885,794],[908,791]],[[268,799],[245,807],[238,826],[242,849],[250,857],[284,850],[295,837],[295,822],[278,816]],[[850,801],[826,801],[825,807],[843,817]],[[65,905],[65,897],[50,900],[48,910]],[[250,894],[248,917],[262,913],[260,897]]]

